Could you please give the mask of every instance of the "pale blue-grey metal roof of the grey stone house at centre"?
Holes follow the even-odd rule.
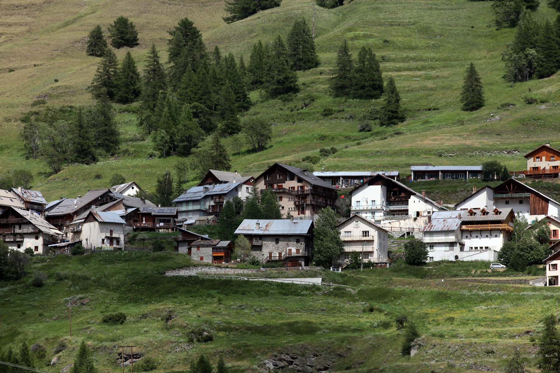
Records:
[[[307,234],[311,224],[313,220],[244,219],[235,234]]]

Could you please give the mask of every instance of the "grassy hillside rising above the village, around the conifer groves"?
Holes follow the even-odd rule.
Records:
[[[155,42],[166,58],[167,30],[188,16],[202,30],[209,50],[220,45],[226,53],[247,56],[256,39],[269,41],[277,34],[285,37],[295,17],[305,17],[311,23],[312,7],[310,0],[284,0],[279,8],[226,25],[221,20],[222,1],[2,2],[0,126],[6,136],[0,140],[0,167],[29,169],[35,174],[34,187],[43,190],[48,199],[108,186],[114,172],[153,189],[155,174],[172,169],[180,159],[151,159],[151,141],[139,138],[136,118],[126,113],[118,116],[125,139],[118,159],[87,167],[68,166],[48,177],[40,174],[46,168],[42,162],[23,157],[17,139],[21,128],[18,119],[31,109],[35,96],[47,94],[48,105],[91,103],[87,86],[98,59],[85,55],[87,32],[97,23],[105,28],[116,16],[129,16],[137,25],[141,43],[131,50],[134,57],[142,60],[148,46]],[[539,19],[555,16],[544,1],[536,12]],[[500,160],[509,169],[514,168],[515,160],[516,168],[522,169],[524,152],[544,142],[560,146],[556,107],[560,80],[554,75],[515,85],[503,81],[501,51],[514,32],[494,29],[491,2],[354,0],[334,10],[317,8],[320,67],[298,73],[302,90],[292,102],[264,101],[259,92],[251,94],[256,105],[244,116],[259,115],[273,122],[274,139],[272,146],[261,153],[246,149],[241,149],[240,155],[235,153],[234,169],[258,173],[276,160],[298,160],[317,154],[325,146],[337,147],[339,152],[323,159],[316,169],[409,172],[410,164],[479,164],[488,159]],[[408,111],[406,122],[358,133],[360,118],[370,108],[380,107],[381,100],[329,97],[328,77],[335,50],[344,37],[354,55],[367,44],[382,59],[385,77],[393,75],[396,79]],[[126,51],[118,50],[119,58]],[[458,98],[465,67],[471,61],[482,76],[487,105],[466,113],[460,111]],[[8,72],[8,68],[15,71]],[[315,101],[302,108],[309,95]],[[543,103],[527,105],[525,96]],[[503,103],[515,106],[498,108]],[[337,112],[323,117],[321,112],[326,107]],[[115,108],[122,111],[119,106]],[[238,139],[226,142],[232,153],[239,151]],[[103,178],[94,180],[96,173]]]

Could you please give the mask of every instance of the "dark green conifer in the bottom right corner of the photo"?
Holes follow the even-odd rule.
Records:
[[[560,371],[560,337],[556,329],[556,317],[547,315],[543,320],[539,350],[536,352],[538,367],[542,372]]]

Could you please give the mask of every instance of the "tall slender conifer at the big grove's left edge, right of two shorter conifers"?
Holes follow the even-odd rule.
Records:
[[[167,89],[164,68],[160,63],[160,56],[157,54],[155,44],[152,44],[152,48],[148,52],[142,81],[140,124],[150,134],[159,120],[155,116],[155,110],[160,91],[166,91]]]

